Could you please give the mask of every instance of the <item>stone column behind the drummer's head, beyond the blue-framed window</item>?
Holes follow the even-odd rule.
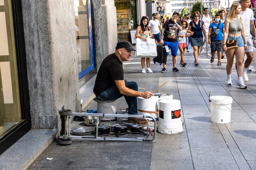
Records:
[[[117,43],[116,7],[114,0],[92,0],[96,66],[115,52]]]

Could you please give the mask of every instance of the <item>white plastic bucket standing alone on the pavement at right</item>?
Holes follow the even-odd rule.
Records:
[[[231,104],[233,98],[230,96],[210,96],[211,100],[211,122],[229,123],[231,119]]]

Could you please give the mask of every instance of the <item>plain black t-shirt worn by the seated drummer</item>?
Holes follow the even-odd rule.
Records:
[[[116,85],[115,80],[124,79],[124,70],[122,62],[115,53],[108,55],[103,59],[99,67],[93,93],[97,96],[108,88]]]

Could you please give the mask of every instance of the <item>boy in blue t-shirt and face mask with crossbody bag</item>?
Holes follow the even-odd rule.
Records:
[[[223,43],[223,33],[225,31],[224,24],[220,23],[220,14],[215,15],[214,23],[211,23],[209,26],[208,41],[211,45],[211,63],[214,62],[215,52],[217,51],[218,56],[218,65],[221,65],[221,50]],[[217,32],[216,32],[217,31]]]

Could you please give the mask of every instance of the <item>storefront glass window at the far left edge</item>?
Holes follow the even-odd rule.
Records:
[[[12,0],[0,0],[0,138],[21,121]]]

